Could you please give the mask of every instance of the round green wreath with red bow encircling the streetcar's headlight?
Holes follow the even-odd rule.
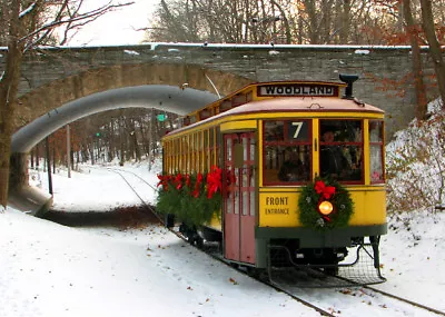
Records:
[[[329,215],[323,215],[318,206],[323,201],[333,205]],[[299,221],[303,226],[316,229],[346,227],[354,214],[354,201],[349,191],[337,181],[317,178],[303,188],[298,199]]]

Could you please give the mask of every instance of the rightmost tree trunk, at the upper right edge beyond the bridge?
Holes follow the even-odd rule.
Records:
[[[434,17],[431,0],[421,0],[422,21],[426,39],[429,44],[429,56],[433,59],[434,70],[436,72],[438,91],[442,98],[442,107],[445,109],[445,63],[442,57],[441,44],[437,40],[434,29]]]

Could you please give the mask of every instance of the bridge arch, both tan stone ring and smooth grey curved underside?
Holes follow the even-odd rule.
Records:
[[[20,97],[12,152],[26,153],[46,136],[82,117],[129,107],[179,115],[204,107],[251,80],[189,65],[119,65],[86,70]],[[187,83],[187,85],[185,85]],[[215,87],[218,91],[215,91]]]

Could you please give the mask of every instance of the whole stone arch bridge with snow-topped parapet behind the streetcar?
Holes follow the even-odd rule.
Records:
[[[6,49],[0,48],[0,73]],[[433,73],[426,49],[426,75]],[[414,116],[409,47],[147,43],[40,48],[26,56],[14,117],[12,184],[26,180],[27,152],[79,118],[117,108],[177,113],[201,108],[244,85],[337,81],[357,73],[354,95],[387,112],[387,135]],[[395,85],[396,90],[388,90]],[[405,91],[404,97],[398,92]]]

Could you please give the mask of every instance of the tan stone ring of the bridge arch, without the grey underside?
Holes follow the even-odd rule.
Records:
[[[188,83],[188,88],[216,93],[214,83],[218,92],[224,96],[251,81],[230,72],[205,69],[195,65],[115,65],[87,69],[21,96],[19,105],[22,111],[16,118],[14,127],[16,129],[24,127],[50,110],[76,99],[112,89],[146,85],[182,87],[184,83]]]

